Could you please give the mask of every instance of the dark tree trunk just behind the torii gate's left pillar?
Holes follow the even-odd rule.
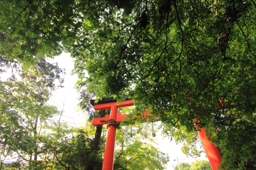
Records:
[[[100,118],[105,117],[105,111],[106,110],[99,111]],[[93,140],[93,147],[91,147],[91,152],[99,150],[101,133],[102,133],[102,125],[97,125],[94,140]],[[90,162],[86,170],[93,170],[93,168],[94,168],[93,162]]]

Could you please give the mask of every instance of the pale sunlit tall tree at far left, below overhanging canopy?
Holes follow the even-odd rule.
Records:
[[[11,73],[10,78],[0,80],[1,167],[7,156],[37,161],[40,133],[44,125],[59,114],[48,100],[51,92],[61,87],[63,70],[41,59],[33,72],[26,73],[18,62],[8,61],[6,57],[0,59]]]

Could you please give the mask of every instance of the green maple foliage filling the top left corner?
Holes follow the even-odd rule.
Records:
[[[81,26],[75,1],[2,1],[1,55],[19,59],[24,70],[38,59],[59,55]],[[75,29],[76,28],[76,29]]]

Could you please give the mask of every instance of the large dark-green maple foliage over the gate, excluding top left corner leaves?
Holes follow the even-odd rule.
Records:
[[[255,153],[243,142],[246,137],[229,139],[239,136],[230,132],[247,134],[246,124],[253,125],[250,134],[255,131],[255,3],[159,0],[133,4],[126,8],[119,1],[115,5],[100,1],[100,19],[90,18],[94,27],[80,30],[88,36],[77,39],[70,51],[76,58],[77,88],[86,86],[99,98],[128,95],[138,101],[134,112],[151,107],[169,130],[185,126],[186,133],[191,133],[198,119],[221,148],[223,166],[255,166]],[[255,148],[255,139],[250,139],[250,147]],[[232,145],[238,147],[236,151]],[[187,154],[199,154],[187,150]],[[230,151],[236,154],[231,156]]]

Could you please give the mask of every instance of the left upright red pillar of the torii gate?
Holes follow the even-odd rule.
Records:
[[[118,106],[111,106],[110,119],[116,120],[116,115],[118,112]],[[103,158],[102,170],[113,170],[114,166],[114,151],[115,151],[115,141],[116,141],[116,126],[110,125],[108,128],[108,135],[106,139],[106,148]]]

